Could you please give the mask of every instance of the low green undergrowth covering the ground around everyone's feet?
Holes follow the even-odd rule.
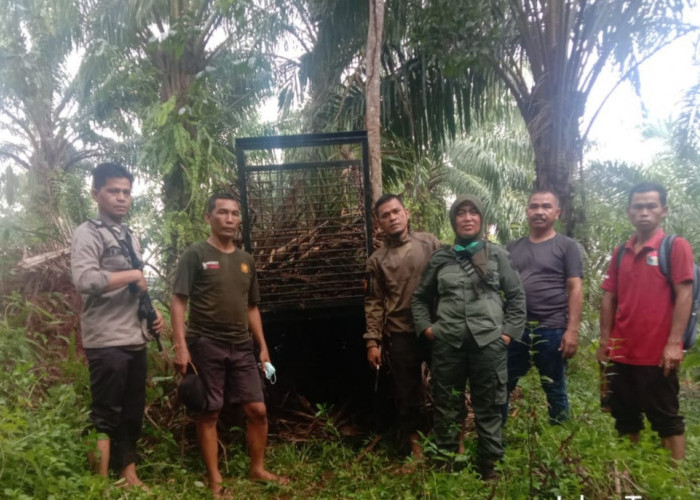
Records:
[[[74,332],[41,342],[28,335],[28,303],[5,302],[0,321],[0,497],[30,498],[208,498],[204,468],[191,419],[173,407],[175,381],[155,349],[150,352],[148,409],[141,443],[140,474],[150,492],[126,491],[115,478],[88,472],[83,437],[89,403],[87,367],[76,354]],[[18,309],[19,308],[19,309]],[[20,310],[22,309],[23,310]],[[12,314],[8,314],[8,311]],[[60,315],[44,310],[52,324]],[[53,318],[53,319],[52,319]],[[52,345],[54,347],[52,347]],[[56,349],[55,345],[63,346]],[[595,343],[584,339],[569,366],[571,422],[551,427],[540,381],[534,371],[520,383],[505,428],[506,458],[500,479],[483,483],[469,460],[473,430],[467,434],[465,467],[447,470],[430,457],[410,464],[397,453],[396,440],[383,436],[282,442],[271,436],[269,467],[289,475],[289,486],[247,479],[243,433],[234,428],[222,453],[222,471],[237,498],[698,498],[700,496],[700,353],[684,365],[682,411],[686,415],[688,458],[673,468],[658,437],[646,430],[633,446],[616,437],[612,418],[599,406]],[[319,411],[319,419],[324,412]],[[274,423],[273,423],[274,424]],[[324,425],[332,425],[330,421]],[[648,426],[647,426],[648,427]],[[274,428],[274,425],[273,425]],[[333,438],[333,436],[337,436]],[[406,465],[415,465],[405,473]]]

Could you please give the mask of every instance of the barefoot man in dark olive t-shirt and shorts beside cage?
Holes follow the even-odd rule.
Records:
[[[184,374],[192,362],[206,387],[207,409],[195,418],[197,437],[209,488],[220,498],[225,492],[216,424],[226,404],[241,404],[247,417],[251,479],[283,484],[289,480],[269,472],[263,464],[267,409],[257,363],[264,366],[270,355],[257,306],[260,293],[253,258],[234,244],[241,224],[238,201],[231,194],[214,194],[207,202],[205,218],[211,229],[209,238],[192,245],[180,259],[171,315],[175,367]],[[254,343],[260,350],[257,360]]]

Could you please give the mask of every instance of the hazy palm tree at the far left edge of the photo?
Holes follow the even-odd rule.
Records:
[[[71,225],[61,206],[64,178],[98,154],[70,68],[83,12],[75,0],[18,0],[2,2],[0,18],[0,131],[8,137],[0,141],[0,160],[28,175],[23,199],[36,215],[35,230],[65,242]],[[17,185],[15,177],[6,171],[6,187]]]

